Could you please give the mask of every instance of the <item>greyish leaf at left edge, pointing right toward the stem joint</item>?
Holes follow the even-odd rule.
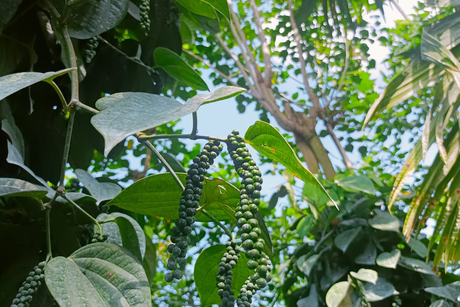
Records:
[[[0,196],[33,197],[37,200],[43,198],[48,189],[27,181],[14,178],[0,178]]]

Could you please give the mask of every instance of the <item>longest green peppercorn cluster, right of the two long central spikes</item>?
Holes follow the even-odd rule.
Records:
[[[236,173],[242,178],[240,185],[240,203],[235,209],[235,217],[238,220],[238,234],[241,237],[245,255],[250,260],[247,266],[255,270],[243,284],[237,297],[238,307],[249,307],[252,296],[257,290],[265,287],[271,280],[271,262],[262,251],[265,241],[260,237],[261,230],[256,219],[260,204],[260,190],[262,189],[262,177],[259,168],[251,157],[242,136],[237,130],[228,135],[228,149],[235,165]]]

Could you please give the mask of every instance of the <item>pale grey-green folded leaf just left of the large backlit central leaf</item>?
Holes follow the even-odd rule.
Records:
[[[121,186],[112,182],[99,182],[83,169],[75,169],[75,175],[83,186],[88,189],[97,203],[112,199],[121,192]]]

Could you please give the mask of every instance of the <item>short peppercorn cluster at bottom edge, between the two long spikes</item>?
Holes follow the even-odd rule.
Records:
[[[227,251],[220,259],[219,275],[217,276],[217,294],[220,296],[219,307],[234,307],[235,293],[231,289],[232,285],[232,269],[236,266],[240,257],[240,247],[237,245],[236,239],[226,243]]]

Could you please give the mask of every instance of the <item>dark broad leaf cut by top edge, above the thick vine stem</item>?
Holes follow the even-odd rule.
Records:
[[[125,18],[128,5],[128,0],[86,1],[76,5],[67,20],[70,37],[86,40],[114,28]]]

